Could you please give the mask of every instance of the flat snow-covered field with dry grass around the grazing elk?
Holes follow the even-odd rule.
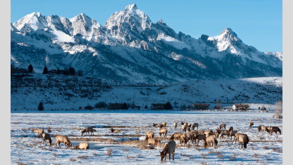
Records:
[[[162,112],[162,113],[11,113],[11,162],[12,164],[282,164],[282,134],[270,136],[257,131],[258,125],[278,126],[282,120],[272,119],[272,113],[255,112]],[[188,123],[199,123],[199,129],[215,131],[219,124],[226,123],[239,133],[248,135],[247,149],[226,139],[218,139],[217,148],[203,148],[195,143],[181,146],[176,141],[174,161],[160,162],[159,151],[168,140],[161,140],[156,149],[142,149],[145,146],[145,131],[158,129],[152,123],[167,122],[168,137],[176,130],[173,121],[186,119]],[[248,123],[254,122],[249,129]],[[94,136],[81,137],[86,126],[96,126]],[[109,127],[120,129],[111,133]],[[31,132],[32,128],[52,129],[52,145],[42,144],[41,139]],[[181,124],[178,123],[180,129]],[[180,130],[177,130],[180,131]],[[283,130],[282,130],[283,131]],[[57,134],[69,137],[73,145],[88,140],[89,150],[55,149]],[[232,138],[233,140],[233,138]],[[146,144],[147,145],[147,144]],[[106,155],[112,149],[111,155]],[[235,160],[233,160],[233,156]]]

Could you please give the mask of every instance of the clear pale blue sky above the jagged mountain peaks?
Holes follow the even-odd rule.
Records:
[[[85,13],[105,25],[112,13],[133,3],[154,23],[162,19],[177,33],[217,36],[229,27],[261,52],[282,51],[282,0],[11,0],[11,23],[40,12],[66,18]]]

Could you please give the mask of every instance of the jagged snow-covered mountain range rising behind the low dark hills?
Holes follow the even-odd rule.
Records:
[[[244,44],[230,28],[195,39],[161,19],[153,23],[135,4],[105,26],[84,13],[28,14],[11,24],[11,63],[35,71],[72,66],[85,76],[139,83],[282,76],[282,60]]]

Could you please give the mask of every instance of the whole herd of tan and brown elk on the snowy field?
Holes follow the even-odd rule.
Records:
[[[179,120],[177,122],[174,120],[174,130],[178,130],[177,129],[178,122]],[[229,127],[229,129],[226,130],[225,123],[220,124],[219,127],[215,129],[215,131],[213,131],[212,129],[199,130],[198,123],[191,124],[191,123],[185,122],[185,120],[182,120],[182,119],[180,120],[180,124],[182,127],[182,131],[175,132],[171,135],[171,137],[167,138],[167,133],[168,133],[168,129],[166,128],[167,123],[166,122],[162,122],[158,124],[153,123],[154,129],[159,129],[158,133],[160,135],[160,139],[162,140],[162,135],[163,135],[163,139],[166,138],[165,140],[168,140],[168,142],[165,143],[163,150],[160,151],[161,161],[163,161],[164,158],[166,160],[167,154],[169,155],[169,160],[170,160],[171,154],[172,154],[172,160],[174,160],[174,152],[176,148],[175,140],[179,140],[180,145],[186,145],[187,143],[190,144],[193,142],[199,145],[199,142],[203,141],[204,148],[208,148],[212,146],[216,148],[218,144],[218,139],[221,139],[221,138],[224,139],[224,136],[227,136],[227,139],[230,139],[230,140],[232,140],[232,137],[234,137],[233,139],[234,144],[236,144],[236,141],[237,141],[239,144],[238,148],[240,148],[241,146],[241,149],[243,147],[246,149],[247,144],[249,142],[249,138],[247,134],[239,133],[237,130],[234,130],[233,127]],[[249,129],[251,129],[254,123],[250,122],[248,125],[249,125]],[[197,130],[195,130],[195,127],[197,128]],[[91,135],[94,135],[94,132],[97,132],[97,130],[93,128],[95,127],[93,126],[86,127],[85,129],[81,131],[81,136],[84,133],[86,133],[86,135],[87,134],[89,135],[89,132],[91,132]],[[113,129],[113,126],[110,127],[110,131],[112,133],[120,133],[120,130]],[[52,144],[51,135],[49,134],[52,132],[50,127],[48,127],[47,129],[47,133],[45,133],[44,129],[42,128],[35,128],[32,130],[32,132],[37,133],[37,138],[39,137],[39,134],[40,134],[40,138],[43,139],[43,144],[46,144],[47,140],[49,141],[50,145]],[[258,126],[258,132],[261,132],[261,134],[268,132],[270,136],[273,135],[273,132],[275,132],[276,135],[278,134],[278,132],[279,134],[281,134],[281,130],[279,127],[272,127],[272,126],[267,127],[264,125]],[[151,145],[154,149],[158,144],[161,143],[161,140],[158,140],[155,138],[154,132],[152,131],[145,132],[145,142]],[[73,149],[89,149],[88,143],[82,142],[76,146],[73,146],[67,136],[57,135],[55,148],[57,148],[57,144],[58,144],[59,148],[61,149],[60,143],[64,143],[64,146],[66,149],[69,147]]]

